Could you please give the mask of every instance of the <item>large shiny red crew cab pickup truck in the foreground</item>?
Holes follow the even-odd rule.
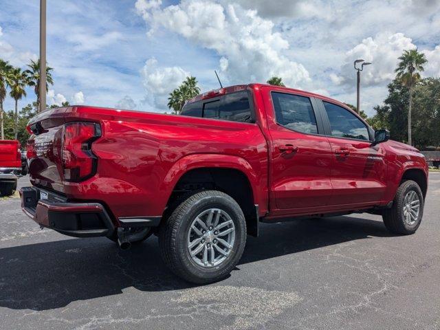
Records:
[[[181,114],[36,115],[24,212],[121,248],[155,233],[170,270],[193,283],[227,276],[261,221],[371,212],[396,234],[420,225],[423,155],[341,102],[252,84],[197,96]]]

